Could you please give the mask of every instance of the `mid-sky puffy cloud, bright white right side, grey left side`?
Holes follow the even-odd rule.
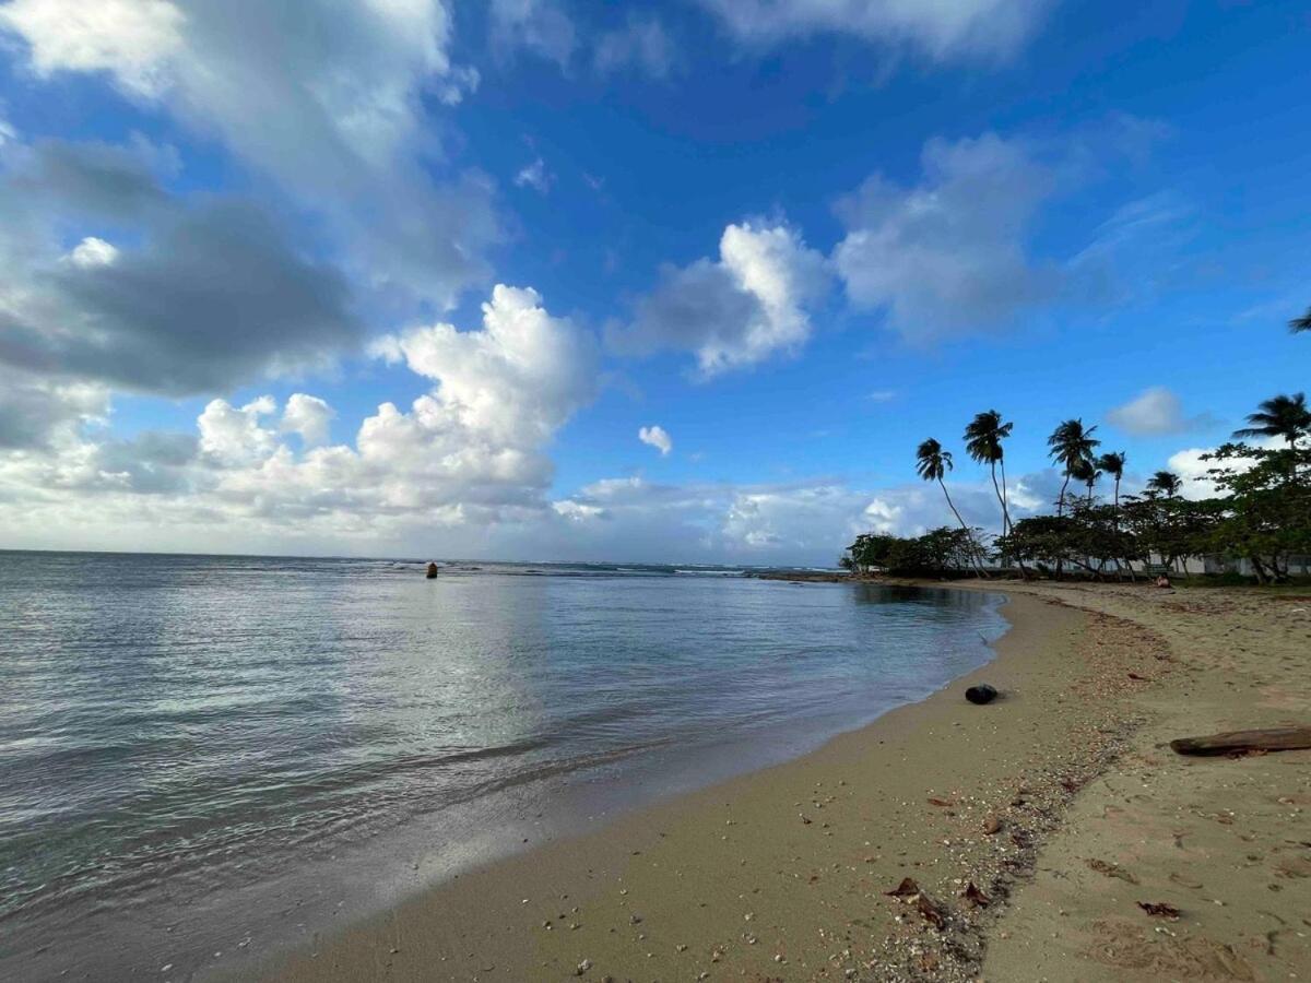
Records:
[[[724,229],[720,258],[666,267],[629,325],[607,338],[623,354],[692,351],[704,377],[797,350],[810,337],[808,308],[829,287],[823,257],[781,224]]]

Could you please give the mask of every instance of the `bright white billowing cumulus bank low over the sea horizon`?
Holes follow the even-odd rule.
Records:
[[[307,393],[281,406],[270,396],[215,398],[194,434],[115,440],[92,415],[108,409],[102,389],[60,393],[47,383],[12,414],[13,391],[0,389],[0,439],[22,446],[0,455],[0,533],[28,541],[25,524],[38,523],[47,545],[64,532],[109,547],[153,530],[157,548],[212,549],[222,536],[229,549],[302,550],[404,549],[440,533],[481,554],[494,530],[562,522],[544,497],[545,451],[595,396],[590,336],[553,317],[535,291],[498,286],[480,328],[416,328],[376,351],[433,388],[408,409],[382,404],[351,443],[325,443],[333,410]],[[51,422],[39,434],[5,425],[42,408]],[[292,433],[302,439],[288,442]]]

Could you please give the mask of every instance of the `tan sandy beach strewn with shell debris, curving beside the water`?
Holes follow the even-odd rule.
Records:
[[[260,975],[1311,978],[1311,751],[1163,747],[1306,722],[1311,600],[1004,590],[996,661],[928,700],[465,873]],[[973,682],[1003,699],[965,703]]]

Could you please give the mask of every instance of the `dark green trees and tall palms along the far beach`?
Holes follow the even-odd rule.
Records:
[[[1311,332],[1311,308],[1289,326]],[[987,535],[961,516],[945,481],[954,467],[952,452],[929,438],[915,451],[915,472],[941,489],[958,528],[910,537],[864,533],[840,564],[857,574],[988,577],[1002,568],[1024,577],[1072,570],[1104,579],[1137,578],[1154,566],[1186,573],[1183,561],[1207,556],[1228,568],[1245,560],[1261,583],[1287,581],[1293,558],[1311,554],[1311,408],[1304,393],[1280,395],[1261,402],[1247,423],[1203,455],[1215,494],[1194,499],[1181,495],[1183,478],[1168,471],[1152,474],[1142,492],[1122,495],[1127,453],[1103,450],[1097,427],[1082,418],[1062,421],[1046,442],[1062,474],[1055,511],[1015,520],[1004,446],[1015,425],[986,410],[969,422],[962,440],[966,455],[988,469],[1000,535]],[[1261,443],[1249,443],[1253,439]],[[1103,481],[1110,484],[1109,499],[1097,495]]]

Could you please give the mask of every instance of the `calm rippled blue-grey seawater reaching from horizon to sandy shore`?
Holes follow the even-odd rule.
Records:
[[[815,747],[1004,626],[722,573],[0,552],[0,978],[231,967]]]

